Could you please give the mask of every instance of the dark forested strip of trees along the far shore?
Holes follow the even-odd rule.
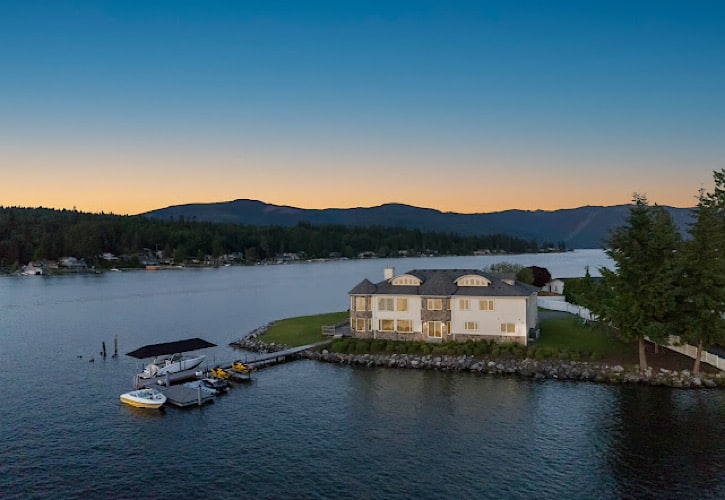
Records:
[[[536,241],[505,234],[461,236],[381,226],[312,226],[304,222],[290,227],[247,226],[0,207],[2,268],[63,256],[84,258],[91,265],[104,252],[138,255],[143,249],[162,250],[165,256],[182,263],[232,253],[256,262],[283,253],[302,253],[305,258],[353,258],[364,252],[381,257],[398,256],[400,252],[466,255],[476,250],[535,252],[538,246]]]

